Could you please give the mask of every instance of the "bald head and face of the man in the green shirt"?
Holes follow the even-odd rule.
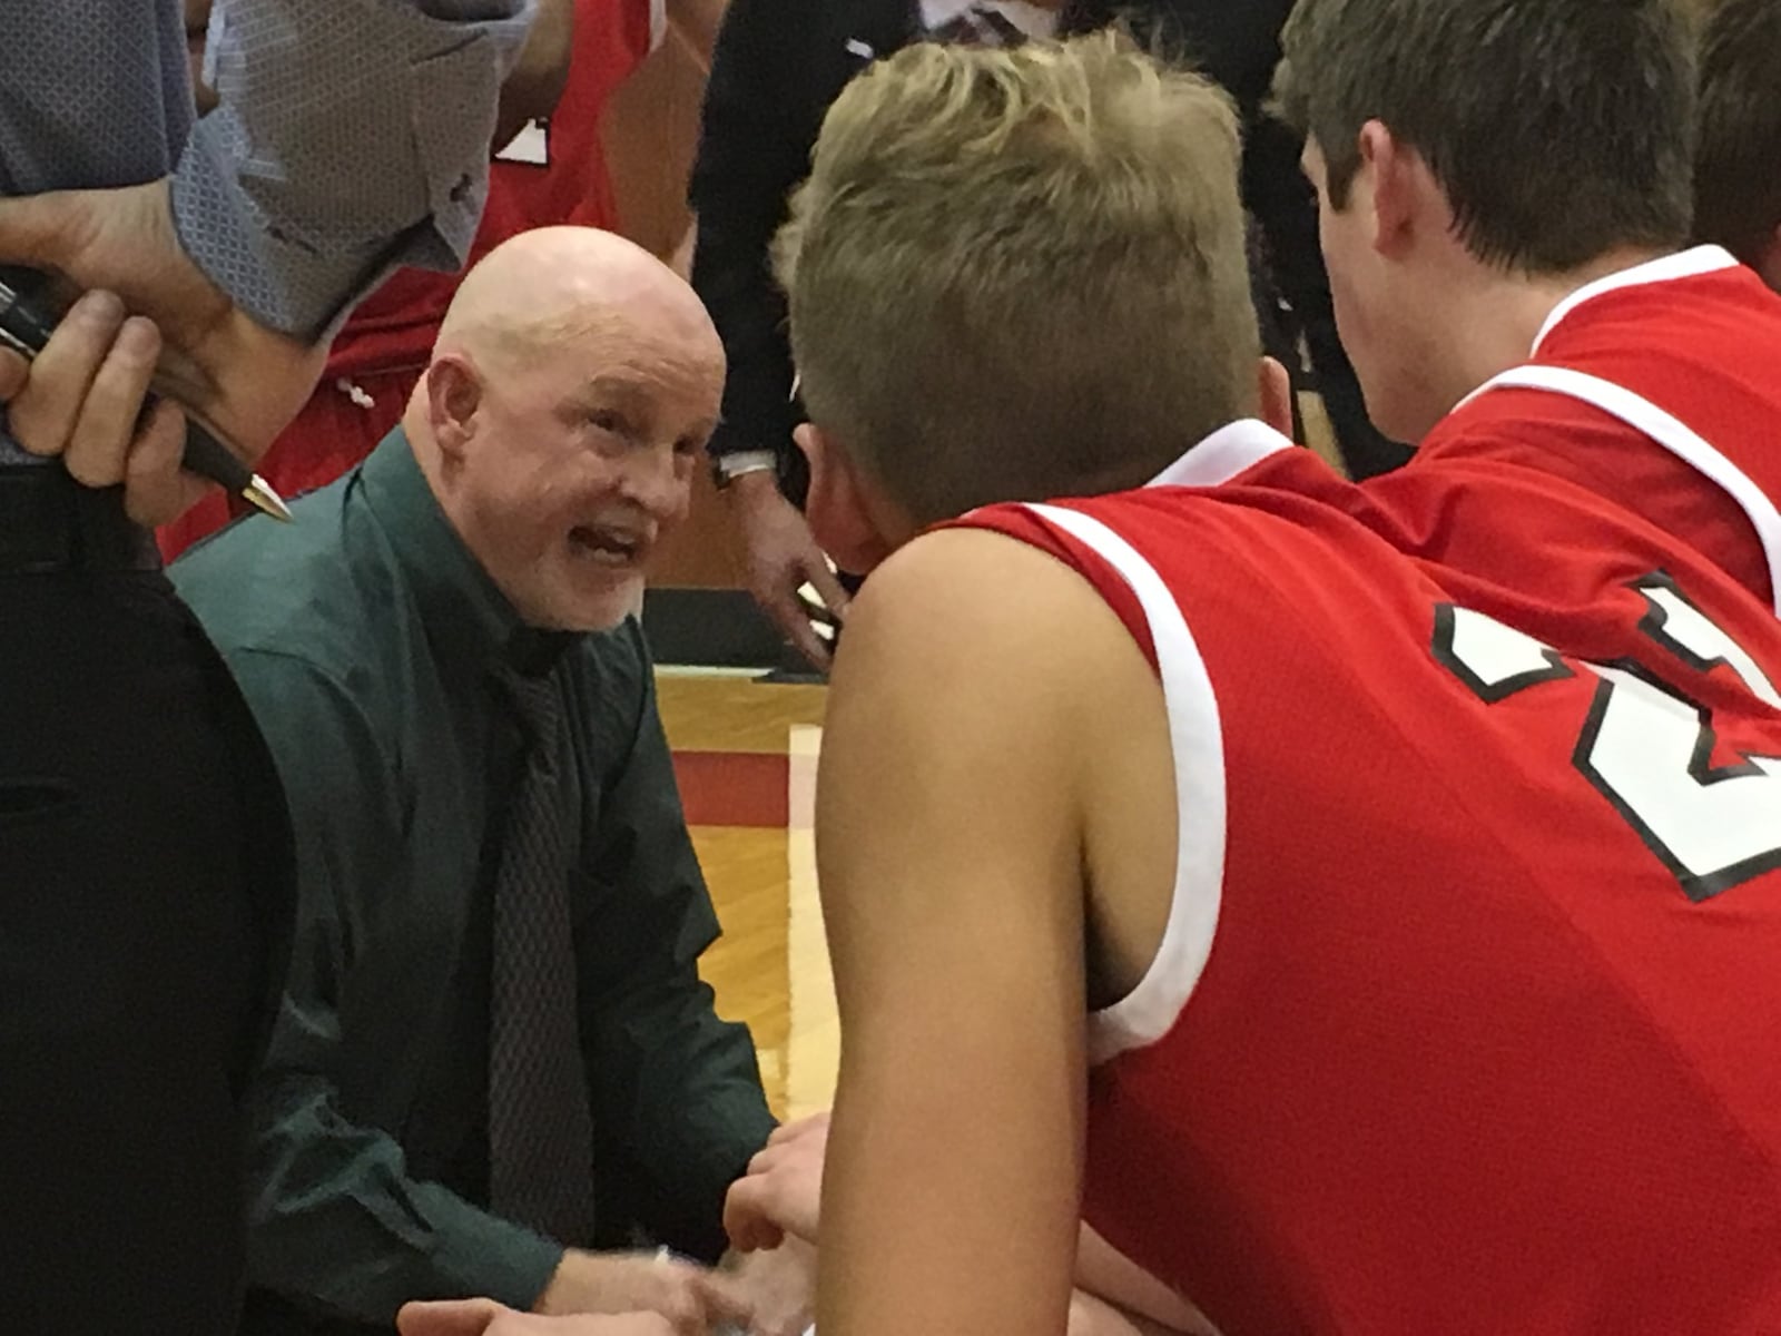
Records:
[[[597,228],[534,228],[459,283],[404,420],[520,618],[600,631],[686,515],[721,394],[723,344],[673,271]]]

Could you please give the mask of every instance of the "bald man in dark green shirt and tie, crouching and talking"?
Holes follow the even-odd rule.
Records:
[[[664,265],[524,233],[362,467],[175,566],[299,848],[244,1332],[388,1332],[456,1295],[741,1316],[730,1277],[636,1250],[721,1252],[773,1128],[698,978],[718,925],[627,620],[721,385]]]

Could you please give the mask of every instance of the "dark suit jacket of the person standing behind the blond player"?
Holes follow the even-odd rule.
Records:
[[[1074,0],[1063,32],[1126,20],[1140,41],[1191,61],[1238,102],[1245,123],[1281,59],[1279,32],[1291,0]],[[921,32],[914,0],[732,0],[718,34],[705,91],[691,205],[698,214],[693,287],[711,308],[728,353],[723,426],[714,456],[780,452],[793,495],[801,483],[791,429],[791,349],[785,299],[773,281],[768,246],[785,221],[785,200],[810,169],[823,114],[873,59]],[[1279,137],[1268,176],[1297,176],[1297,148]],[[1288,160],[1279,162],[1281,151]],[[1254,175],[1254,173],[1248,173]]]

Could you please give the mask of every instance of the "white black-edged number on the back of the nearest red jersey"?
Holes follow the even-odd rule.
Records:
[[[1639,629],[1651,639],[1690,668],[1731,668],[1760,700],[1781,709],[1781,693],[1761,668],[1667,575],[1647,575],[1633,588],[1646,599]],[[1434,654],[1487,704],[1576,675],[1533,636],[1453,604],[1435,609]],[[1715,766],[1706,709],[1626,668],[1582,666],[1601,680],[1573,764],[1674,873],[1683,894],[1710,900],[1781,868],[1781,757],[1745,755]]]

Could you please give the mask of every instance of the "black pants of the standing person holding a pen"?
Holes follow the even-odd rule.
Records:
[[[290,835],[159,574],[0,574],[0,1315],[233,1331]]]

